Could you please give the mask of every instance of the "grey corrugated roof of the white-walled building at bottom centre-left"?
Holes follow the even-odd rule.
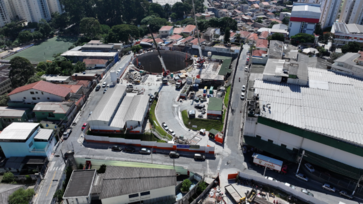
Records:
[[[173,169],[108,166],[100,199],[176,185]]]

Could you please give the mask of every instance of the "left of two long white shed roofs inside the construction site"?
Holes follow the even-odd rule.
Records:
[[[125,85],[116,85],[114,88],[109,88],[98,102],[89,120],[104,121],[108,124],[125,92]]]

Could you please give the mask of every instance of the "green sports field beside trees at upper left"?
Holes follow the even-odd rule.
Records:
[[[5,59],[11,60],[14,57],[20,56],[27,58],[31,62],[41,62],[46,60],[53,60],[53,55],[63,53],[77,41],[76,37],[54,37],[50,38],[38,45],[34,45],[24,51]]]

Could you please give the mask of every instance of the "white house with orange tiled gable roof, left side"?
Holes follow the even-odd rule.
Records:
[[[18,87],[8,96],[10,97],[9,103],[36,104],[39,102],[66,101],[71,93],[70,88],[46,81],[38,81]]]

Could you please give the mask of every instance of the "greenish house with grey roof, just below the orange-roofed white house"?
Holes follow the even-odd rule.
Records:
[[[33,109],[35,118],[38,121],[62,121],[62,124],[69,125],[77,113],[74,102],[40,102]]]

